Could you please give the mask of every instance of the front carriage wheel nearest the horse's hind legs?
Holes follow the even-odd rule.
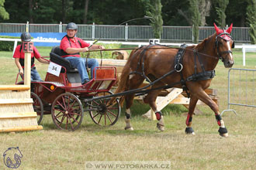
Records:
[[[99,92],[96,94],[96,97],[100,96],[107,96],[112,94],[112,92]],[[109,126],[116,124],[116,121],[119,118],[121,107],[119,104],[119,101],[116,100],[115,104],[109,105],[108,101],[109,99],[99,99],[99,100],[93,100],[90,106],[90,116],[92,117],[92,121],[95,122],[95,124],[99,124],[101,126]],[[98,108],[95,110],[94,108]]]

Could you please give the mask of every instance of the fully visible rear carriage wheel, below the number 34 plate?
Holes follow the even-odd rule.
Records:
[[[54,100],[51,116],[57,128],[74,131],[83,120],[84,110],[73,93],[62,93]]]

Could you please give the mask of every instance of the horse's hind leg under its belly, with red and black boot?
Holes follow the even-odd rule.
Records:
[[[160,110],[157,110],[156,99],[161,90],[150,91],[146,97],[144,97],[144,103],[149,104],[151,109],[154,111],[154,114],[157,117],[157,128],[160,131],[164,131],[164,116]]]

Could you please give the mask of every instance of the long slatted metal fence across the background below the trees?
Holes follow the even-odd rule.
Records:
[[[0,23],[0,32],[65,32],[66,24]],[[231,36],[235,42],[251,42],[248,27],[234,27]],[[213,26],[199,27],[199,41],[213,35]],[[78,25],[81,39],[119,41],[147,41],[154,39],[152,26]],[[163,26],[162,41],[192,42],[192,26]]]

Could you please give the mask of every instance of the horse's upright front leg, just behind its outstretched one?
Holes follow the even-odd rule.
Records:
[[[193,128],[192,128],[192,117],[194,114],[194,110],[195,110],[195,105],[198,101],[198,98],[196,98],[195,96],[192,96],[190,98],[189,101],[189,113],[187,116],[187,120],[185,121],[185,124],[187,125],[187,128],[185,128],[185,133],[186,134],[195,134]]]

